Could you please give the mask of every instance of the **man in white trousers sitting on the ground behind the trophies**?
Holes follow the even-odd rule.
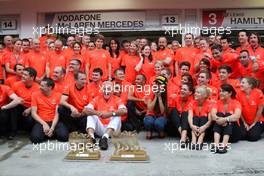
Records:
[[[102,85],[103,94],[95,97],[86,107],[84,113],[87,117],[86,131],[95,143],[94,133],[101,136],[99,147],[107,150],[108,138],[114,131],[120,131],[120,116],[127,113],[122,100],[113,95],[113,84],[106,81]]]

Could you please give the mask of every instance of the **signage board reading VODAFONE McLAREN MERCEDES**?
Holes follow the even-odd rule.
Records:
[[[141,30],[145,12],[80,12],[49,15],[52,26],[64,28],[97,28],[99,31]],[[47,18],[47,17],[46,17]]]

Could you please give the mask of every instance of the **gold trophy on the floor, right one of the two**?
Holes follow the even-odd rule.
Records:
[[[112,143],[115,150],[111,155],[112,161],[147,161],[147,152],[140,147],[136,132],[122,132],[114,136]]]

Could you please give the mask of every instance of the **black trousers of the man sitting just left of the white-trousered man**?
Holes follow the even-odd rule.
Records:
[[[87,116],[79,118],[73,118],[71,116],[71,110],[65,106],[59,106],[60,121],[66,126],[69,132],[80,131],[86,133]]]

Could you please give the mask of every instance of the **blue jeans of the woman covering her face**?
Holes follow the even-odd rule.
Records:
[[[144,126],[147,131],[156,130],[158,132],[163,132],[165,125],[167,124],[166,117],[155,117],[155,116],[146,116],[144,118]]]

